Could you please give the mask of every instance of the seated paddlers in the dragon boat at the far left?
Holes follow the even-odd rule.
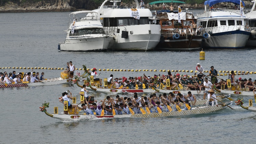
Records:
[[[18,83],[24,83],[24,82],[40,82],[42,80],[45,80],[44,78],[44,72],[41,73],[41,76],[39,76],[39,72],[35,73],[28,72],[28,73],[16,73],[16,71],[10,72],[9,75],[7,72],[0,72],[0,84],[18,84]]]

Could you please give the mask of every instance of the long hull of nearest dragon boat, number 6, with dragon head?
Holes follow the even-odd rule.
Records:
[[[44,112],[46,115],[60,119],[60,120],[86,120],[91,118],[152,118],[152,117],[169,117],[169,116],[184,116],[184,115],[195,115],[195,114],[204,114],[210,113],[214,111],[218,111],[224,109],[232,104],[232,101],[225,102],[222,105],[218,106],[200,106],[200,107],[192,107],[191,110],[182,110],[179,111],[171,111],[171,112],[162,112],[162,113],[146,113],[146,114],[122,114],[122,115],[74,115],[74,114],[50,114],[46,111],[46,108],[49,107],[49,103],[42,104],[42,107],[39,107],[39,111]]]

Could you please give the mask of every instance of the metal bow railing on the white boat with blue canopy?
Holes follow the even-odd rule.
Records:
[[[244,26],[242,25],[233,25],[233,26],[222,26],[222,27],[212,27],[204,29],[205,32],[209,33],[218,33],[218,32],[226,32],[226,31],[234,31],[234,30],[244,30]]]

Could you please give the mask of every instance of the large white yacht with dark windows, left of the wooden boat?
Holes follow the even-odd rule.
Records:
[[[140,9],[138,0],[136,8],[121,8],[117,2],[110,1],[113,5],[106,6],[105,0],[99,9],[98,18],[102,20],[105,33],[114,36],[113,45],[109,49],[115,51],[147,51],[152,50],[160,41],[160,25],[151,25],[149,9]]]

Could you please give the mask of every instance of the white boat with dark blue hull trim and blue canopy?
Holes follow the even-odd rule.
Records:
[[[239,49],[244,48],[251,32],[244,30],[245,16],[229,8],[210,8],[220,2],[240,3],[240,0],[208,0],[204,2],[204,13],[198,14],[197,26],[210,34],[202,42],[203,48]],[[243,5],[244,2],[242,1]]]

